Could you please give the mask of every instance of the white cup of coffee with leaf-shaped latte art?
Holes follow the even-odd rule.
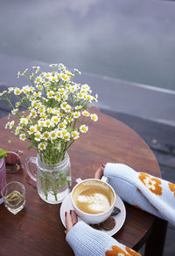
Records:
[[[73,208],[85,223],[102,223],[111,215],[115,203],[114,189],[102,179],[77,179],[73,187],[71,200]]]

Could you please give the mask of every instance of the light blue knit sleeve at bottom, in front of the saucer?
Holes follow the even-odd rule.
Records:
[[[95,230],[82,221],[68,231],[66,241],[72,247],[75,256],[112,256],[118,255],[119,252],[121,252],[119,255],[124,256],[140,255],[106,233]]]

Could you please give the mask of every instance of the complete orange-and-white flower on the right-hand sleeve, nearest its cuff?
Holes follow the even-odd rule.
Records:
[[[145,187],[147,187],[152,193],[161,195],[162,187],[161,180],[157,178],[151,178],[151,176],[147,173],[140,172],[138,177]]]

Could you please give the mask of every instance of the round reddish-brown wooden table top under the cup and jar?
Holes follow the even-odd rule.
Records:
[[[99,113],[99,121],[89,123],[88,134],[82,135],[68,153],[71,159],[73,186],[75,179],[93,178],[96,169],[107,162],[130,165],[137,172],[148,172],[161,177],[158,162],[149,146],[131,128],[112,117]],[[0,120],[0,147],[6,150],[24,151],[25,157],[36,156],[28,150],[27,142],[13,139],[10,131],[4,129],[7,118]],[[52,205],[42,201],[37,187],[25,170],[7,173],[7,182],[17,180],[25,185],[26,206],[13,216],[4,204],[0,205],[1,255],[73,255],[66,243],[64,226],[59,218],[60,204]],[[72,187],[73,187],[72,186]],[[133,247],[144,239],[155,219],[144,211],[125,203],[126,221],[114,238],[124,245]]]

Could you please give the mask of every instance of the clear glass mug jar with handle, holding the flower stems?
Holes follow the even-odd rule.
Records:
[[[37,172],[31,170],[30,163],[37,165]],[[66,152],[63,161],[58,164],[45,164],[37,157],[25,159],[25,169],[31,179],[37,182],[38,194],[43,201],[57,204],[70,193],[71,165]]]

